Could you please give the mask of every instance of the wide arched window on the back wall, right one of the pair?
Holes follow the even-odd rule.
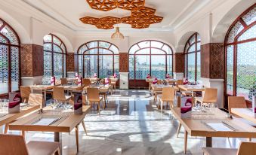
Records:
[[[129,50],[130,79],[141,80],[147,74],[165,79],[165,74],[172,75],[172,49],[160,41],[141,41]]]

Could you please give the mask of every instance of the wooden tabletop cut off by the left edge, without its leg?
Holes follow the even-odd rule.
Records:
[[[28,105],[20,110],[19,113],[16,114],[6,114],[3,117],[0,117],[0,126],[5,125],[7,123],[11,123],[14,120],[17,120],[20,117],[23,117],[26,114],[29,114],[33,111],[36,111],[40,108],[40,105]]]

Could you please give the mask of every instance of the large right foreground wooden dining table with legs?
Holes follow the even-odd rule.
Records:
[[[241,120],[227,118],[227,113],[215,108],[214,114],[191,114],[183,117],[180,108],[172,108],[172,114],[184,126],[184,153],[187,153],[187,135],[201,136],[206,138],[206,147],[212,147],[212,137],[227,138],[256,138],[256,129]],[[230,130],[216,130],[208,123],[217,123],[227,126]]]

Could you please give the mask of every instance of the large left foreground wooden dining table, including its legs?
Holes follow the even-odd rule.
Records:
[[[88,114],[91,107],[83,105],[82,114],[76,115],[74,111],[61,112],[61,114],[56,114],[54,110],[49,110],[49,107],[45,107],[42,114],[34,112],[22,117],[11,123],[9,125],[10,130],[20,130],[25,136],[26,131],[33,132],[54,132],[54,141],[60,142],[60,148],[62,148],[61,133],[62,132],[72,132],[72,129],[76,129],[76,148],[79,152],[79,124],[82,123],[82,126],[85,129],[85,115]],[[50,125],[36,125],[35,123],[41,120],[42,118],[55,118],[58,117],[59,120],[50,124]],[[86,129],[85,129],[86,131]],[[62,149],[60,149],[61,151]]]

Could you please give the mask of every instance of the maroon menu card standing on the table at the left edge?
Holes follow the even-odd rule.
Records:
[[[8,113],[9,114],[19,113],[20,102],[21,102],[20,93],[9,93]]]

